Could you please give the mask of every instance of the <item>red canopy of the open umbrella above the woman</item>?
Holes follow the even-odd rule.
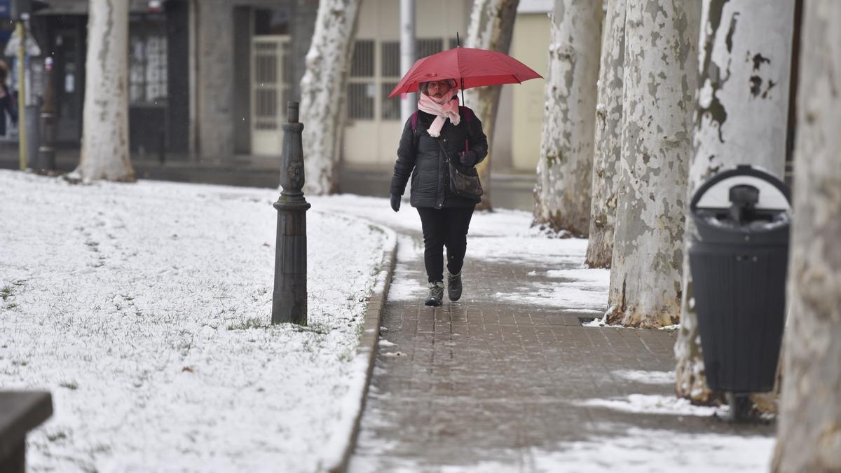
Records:
[[[417,92],[421,82],[461,79],[461,88],[520,83],[542,78],[520,61],[494,50],[452,48],[415,61],[409,72],[397,82],[389,98],[400,93]]]

